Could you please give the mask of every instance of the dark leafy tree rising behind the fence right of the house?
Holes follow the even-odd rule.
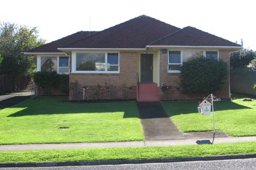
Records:
[[[243,40],[241,40],[241,46],[243,46]],[[237,52],[231,53],[230,67],[239,68],[247,66],[253,59],[256,59],[256,53],[252,49],[242,48]]]

